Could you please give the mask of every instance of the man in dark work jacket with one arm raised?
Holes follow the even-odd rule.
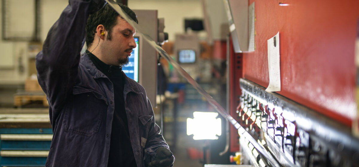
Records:
[[[46,166],[172,166],[144,88],[121,69],[136,30],[103,4],[69,0],[36,56],[53,130]],[[85,29],[88,50],[80,55]]]

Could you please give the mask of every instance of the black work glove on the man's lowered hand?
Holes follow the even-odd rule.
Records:
[[[148,164],[148,167],[172,167],[174,156],[166,147],[160,147],[156,150],[157,157]]]

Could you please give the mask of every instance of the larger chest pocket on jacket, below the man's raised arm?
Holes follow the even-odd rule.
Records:
[[[73,98],[69,101],[64,116],[66,131],[83,136],[97,133],[103,114],[107,111],[106,98],[92,90],[75,86]]]

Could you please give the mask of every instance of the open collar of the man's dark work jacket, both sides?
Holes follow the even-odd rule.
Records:
[[[91,61],[91,59],[89,58],[89,56],[87,54],[82,55],[80,57],[80,64],[85,66],[85,68],[87,69],[88,73],[92,76],[92,78],[94,78],[94,79],[107,78],[107,76],[105,74],[103,74],[100,70],[98,70],[96,68],[95,64],[93,64],[93,62]],[[136,81],[127,77],[127,75],[125,73],[123,73],[123,71],[121,71],[121,72],[125,76],[125,85],[123,87],[123,90],[125,90],[125,93],[132,91],[137,94],[142,94],[142,92],[138,88],[139,84]],[[127,90],[127,92],[126,92],[126,90]]]

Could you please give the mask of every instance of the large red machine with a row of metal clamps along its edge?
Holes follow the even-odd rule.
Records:
[[[239,16],[233,11],[243,6],[231,2],[236,23]],[[354,51],[359,1],[248,1],[252,3],[255,51],[230,49],[230,114],[253,137],[265,141],[283,166],[359,166],[359,140],[351,134],[357,117]],[[281,91],[269,93],[267,40],[278,32]],[[231,151],[236,151],[236,141],[231,127]],[[248,143],[241,142],[248,150]],[[258,156],[252,159],[262,166]]]

